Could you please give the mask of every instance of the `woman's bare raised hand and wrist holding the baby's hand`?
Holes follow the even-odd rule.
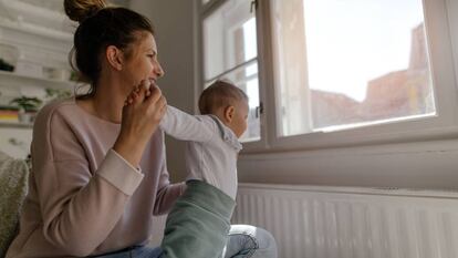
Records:
[[[167,109],[159,87],[143,81],[126,99],[123,107],[121,133],[113,149],[132,165],[137,166],[143,151],[157,130]]]

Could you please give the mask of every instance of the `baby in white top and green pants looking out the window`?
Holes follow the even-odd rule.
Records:
[[[137,93],[132,99],[136,101]],[[167,106],[159,125],[168,135],[188,141],[187,188],[167,217],[162,257],[189,257],[189,251],[192,257],[219,257],[230,229],[248,96],[231,83],[216,81],[201,93],[199,110],[201,115],[189,115]]]

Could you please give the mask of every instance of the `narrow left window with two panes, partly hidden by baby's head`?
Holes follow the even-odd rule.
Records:
[[[249,96],[243,142],[260,140],[258,50],[251,1],[231,0],[204,19],[205,85],[217,79],[233,82]]]

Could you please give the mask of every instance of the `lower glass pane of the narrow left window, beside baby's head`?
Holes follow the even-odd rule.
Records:
[[[240,137],[241,142],[253,142],[261,138],[261,124],[259,117],[259,81],[258,81],[258,63],[250,62],[223,76],[236,86],[240,87],[248,95],[248,128]],[[206,86],[209,86],[208,82]]]

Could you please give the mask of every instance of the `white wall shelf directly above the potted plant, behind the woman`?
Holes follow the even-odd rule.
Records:
[[[34,78],[22,74],[17,74],[14,72],[0,71],[0,81],[1,85],[4,84],[28,84],[33,86],[41,87],[51,87],[51,89],[61,89],[61,90],[72,90],[74,86],[79,85],[79,82],[73,81],[61,81],[52,80],[44,78]]]

